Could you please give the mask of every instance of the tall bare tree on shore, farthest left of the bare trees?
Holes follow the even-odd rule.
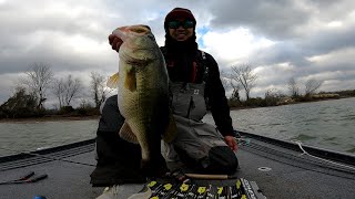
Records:
[[[47,90],[50,88],[50,83],[53,78],[52,70],[49,64],[37,62],[30,65],[30,70],[26,72],[26,76],[20,82],[29,88],[37,97],[37,108],[43,108],[43,103],[47,100]]]

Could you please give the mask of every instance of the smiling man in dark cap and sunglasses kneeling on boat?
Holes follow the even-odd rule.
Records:
[[[195,25],[195,18],[187,9],[175,8],[165,17],[165,45],[161,52],[170,77],[171,108],[178,132],[172,143],[164,144],[163,156],[168,163],[183,163],[194,172],[231,175],[239,163],[230,107],[217,63],[197,48]],[[122,40],[110,34],[109,41],[119,51]],[[201,121],[207,107],[216,127]],[[98,165],[91,174],[93,186],[108,187],[101,199],[120,198],[120,191],[138,192],[146,182],[146,176],[141,172],[140,146],[118,134],[123,123],[118,96],[109,97],[101,108]]]

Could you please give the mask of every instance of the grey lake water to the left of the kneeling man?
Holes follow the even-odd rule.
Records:
[[[94,138],[99,119],[0,123],[0,156]]]

